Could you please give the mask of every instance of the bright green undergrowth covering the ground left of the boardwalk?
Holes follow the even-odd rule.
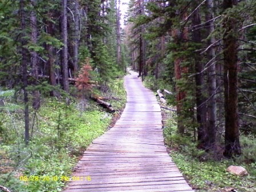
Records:
[[[23,141],[23,111],[0,111],[0,185],[12,192],[61,191],[75,163],[93,139],[103,134],[126,102],[123,80],[117,79],[98,92],[117,111],[108,113],[89,99],[44,98],[39,110],[30,109],[28,146]],[[12,99],[6,102],[13,103]],[[0,190],[1,191],[1,190]]]

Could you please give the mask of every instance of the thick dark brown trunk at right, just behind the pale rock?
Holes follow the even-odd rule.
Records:
[[[224,0],[224,9],[233,7],[234,1]],[[241,154],[238,126],[238,44],[237,21],[232,17],[224,19],[223,55],[224,55],[224,98],[225,98],[225,157]]]

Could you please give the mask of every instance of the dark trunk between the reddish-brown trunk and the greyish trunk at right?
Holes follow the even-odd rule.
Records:
[[[195,2],[198,4],[198,1]],[[194,11],[192,17],[192,25],[197,26],[201,24],[201,18],[199,14],[199,9]],[[195,43],[201,43],[201,31],[194,30],[192,33],[192,40]],[[206,142],[207,142],[207,131],[206,131],[206,97],[204,95],[204,79],[203,79],[203,62],[202,57],[199,54],[194,54],[194,61],[195,61],[195,95],[196,95],[196,103],[197,103],[197,122],[199,123],[198,126],[198,141],[199,147],[202,149],[206,149]]]

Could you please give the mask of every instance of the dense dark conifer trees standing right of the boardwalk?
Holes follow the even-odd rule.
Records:
[[[178,133],[225,157],[255,134],[255,1],[131,1],[133,69],[174,91]],[[156,81],[157,80],[157,81]]]

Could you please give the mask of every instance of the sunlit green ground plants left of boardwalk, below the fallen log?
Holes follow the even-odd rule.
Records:
[[[23,145],[20,126],[17,126],[17,139],[9,145],[1,143],[4,150],[0,155],[4,158],[0,183],[17,192],[61,191],[64,178],[71,173],[81,150],[104,133],[111,115],[97,110],[81,112],[77,102],[66,106],[55,99],[46,99],[35,115],[37,123],[29,146]]]

